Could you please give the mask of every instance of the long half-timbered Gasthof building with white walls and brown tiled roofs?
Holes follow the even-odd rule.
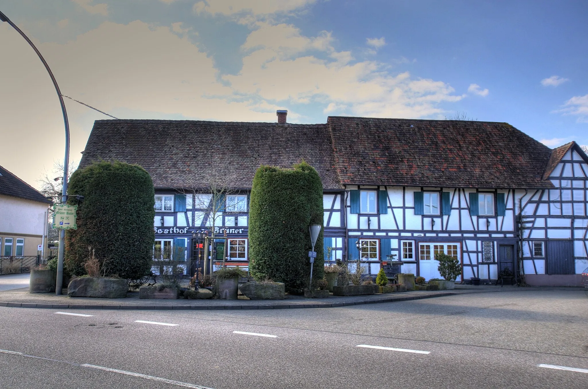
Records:
[[[399,260],[402,272],[430,279],[443,252],[460,259],[465,282],[508,268],[534,285],[574,285],[588,266],[588,157],[574,142],[552,150],[482,121],[280,121],[98,120],[81,166],[121,160],[151,174],[155,256],[191,247],[214,218],[228,238],[218,259],[246,266],[256,169],[304,159],[323,182],[328,261],[361,259],[375,275]],[[211,175],[232,188],[215,215],[203,194]]]

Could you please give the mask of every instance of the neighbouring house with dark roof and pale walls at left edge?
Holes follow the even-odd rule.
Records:
[[[50,204],[31,185],[0,166],[0,258],[44,254]]]

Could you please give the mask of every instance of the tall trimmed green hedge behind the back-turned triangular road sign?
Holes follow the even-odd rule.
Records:
[[[249,209],[249,268],[253,276],[267,275],[285,283],[290,292],[308,286],[311,224],[323,224],[323,185],[315,168],[304,161],[292,169],[259,167]],[[322,230],[315,251],[313,279],[322,279]]]

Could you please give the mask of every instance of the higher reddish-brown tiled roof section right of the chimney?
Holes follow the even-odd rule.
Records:
[[[551,150],[508,123],[329,117],[343,184],[551,188]]]

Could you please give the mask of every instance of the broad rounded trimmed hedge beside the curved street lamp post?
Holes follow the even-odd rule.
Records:
[[[149,173],[139,165],[94,163],[72,174],[68,194],[82,195],[78,229],[68,230],[65,266],[83,275],[89,247],[106,261],[106,275],[138,279],[151,270],[155,193]]]

